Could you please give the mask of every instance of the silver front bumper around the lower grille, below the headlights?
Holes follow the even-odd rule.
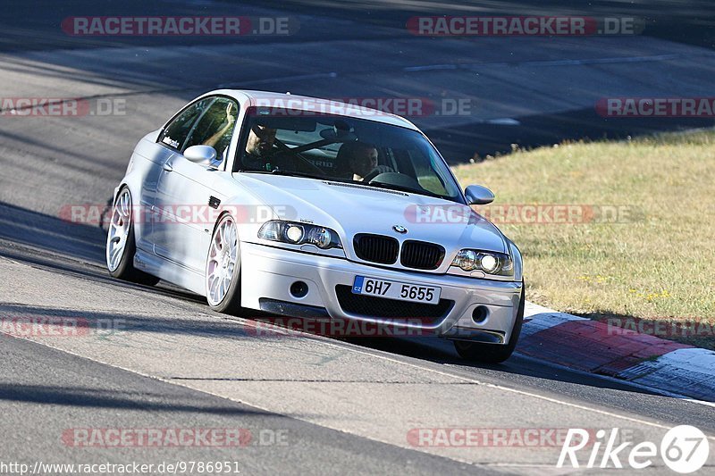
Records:
[[[272,312],[282,309],[282,313],[286,315],[296,315],[295,311],[301,307],[324,309],[333,319],[390,324],[394,327],[425,330],[425,334],[444,338],[479,340],[494,344],[509,342],[517,318],[521,282],[394,271],[353,263],[347,259],[300,253],[273,246],[245,242],[240,246],[241,305],[245,308]],[[453,304],[444,315],[428,322],[349,313],[341,305],[336,287],[351,288],[356,275],[437,286],[442,288],[441,298],[450,300]],[[296,281],[307,284],[305,296],[291,295],[290,286]],[[266,303],[271,305],[266,307]],[[473,314],[477,307],[480,307],[477,312],[479,319],[475,321]]]

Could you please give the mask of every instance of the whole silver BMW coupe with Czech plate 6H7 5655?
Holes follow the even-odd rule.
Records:
[[[139,141],[106,242],[122,280],[222,313],[387,324],[501,362],[524,314],[517,246],[419,129],[324,99],[217,90]]]

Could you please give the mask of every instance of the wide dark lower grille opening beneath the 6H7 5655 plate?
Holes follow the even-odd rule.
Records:
[[[342,310],[362,317],[416,319],[425,324],[437,322],[450,312],[454,301],[440,299],[436,305],[411,303],[398,299],[354,294],[352,288],[339,284],[335,287]]]

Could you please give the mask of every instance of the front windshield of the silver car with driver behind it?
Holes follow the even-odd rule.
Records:
[[[355,182],[461,202],[448,165],[416,130],[340,115],[250,108],[235,170]]]

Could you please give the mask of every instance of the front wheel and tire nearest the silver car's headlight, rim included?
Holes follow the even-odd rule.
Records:
[[[219,218],[211,235],[204,281],[211,309],[217,313],[242,314],[239,230],[229,213]]]

